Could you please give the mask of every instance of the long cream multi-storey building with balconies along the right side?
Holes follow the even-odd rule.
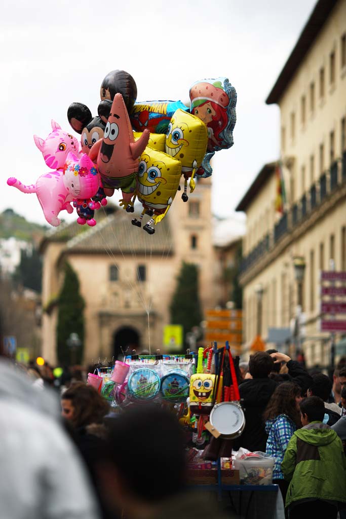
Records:
[[[275,212],[274,162],[237,207],[247,216],[243,349],[258,330],[268,339],[270,327],[301,323],[301,306],[296,347],[308,365],[326,366],[330,334],[320,331],[319,272],[346,270],[346,2],[316,3],[268,96],[273,103],[280,107],[286,203]]]

